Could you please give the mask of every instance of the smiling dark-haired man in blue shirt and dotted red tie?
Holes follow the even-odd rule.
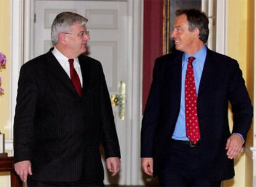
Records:
[[[203,12],[177,10],[173,28],[177,51],[156,59],[143,116],[142,169],[161,186],[220,186],[234,177],[252,122],[249,94],[237,61],[205,45]]]

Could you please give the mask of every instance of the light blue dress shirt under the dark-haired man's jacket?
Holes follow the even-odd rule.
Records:
[[[194,69],[194,77],[195,77],[195,89],[199,89],[200,79],[203,72],[203,65],[205,65],[205,58],[207,55],[207,47],[203,46],[202,49],[198,50],[197,53],[190,56],[186,53],[183,54],[182,57],[182,73],[181,73],[181,109],[179,111],[179,116],[177,118],[176,127],[173,133],[173,139],[175,140],[189,140],[186,137],[186,119],[185,119],[185,76],[187,71],[187,63],[189,57],[195,57],[195,60],[192,62]]]

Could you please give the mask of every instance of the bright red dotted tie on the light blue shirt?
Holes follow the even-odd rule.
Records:
[[[195,78],[192,62],[195,57],[189,57],[185,78],[185,117],[186,135],[190,141],[197,143],[200,140],[200,130],[197,117],[197,91],[195,89]]]

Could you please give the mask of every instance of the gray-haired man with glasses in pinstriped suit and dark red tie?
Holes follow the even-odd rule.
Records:
[[[14,119],[14,167],[28,186],[103,186],[99,151],[112,176],[120,150],[101,63],[87,51],[87,18],[62,12],[53,48],[20,69]]]

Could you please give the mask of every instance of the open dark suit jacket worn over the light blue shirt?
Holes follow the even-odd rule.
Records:
[[[153,82],[142,121],[141,157],[153,157],[153,173],[158,174],[179,115],[181,103],[180,51],[157,58]],[[246,139],[252,121],[252,105],[236,60],[207,49],[198,90],[197,112],[200,125],[205,172],[213,180],[234,176],[233,160],[225,145],[231,135],[228,101],[234,114],[233,133]]]

